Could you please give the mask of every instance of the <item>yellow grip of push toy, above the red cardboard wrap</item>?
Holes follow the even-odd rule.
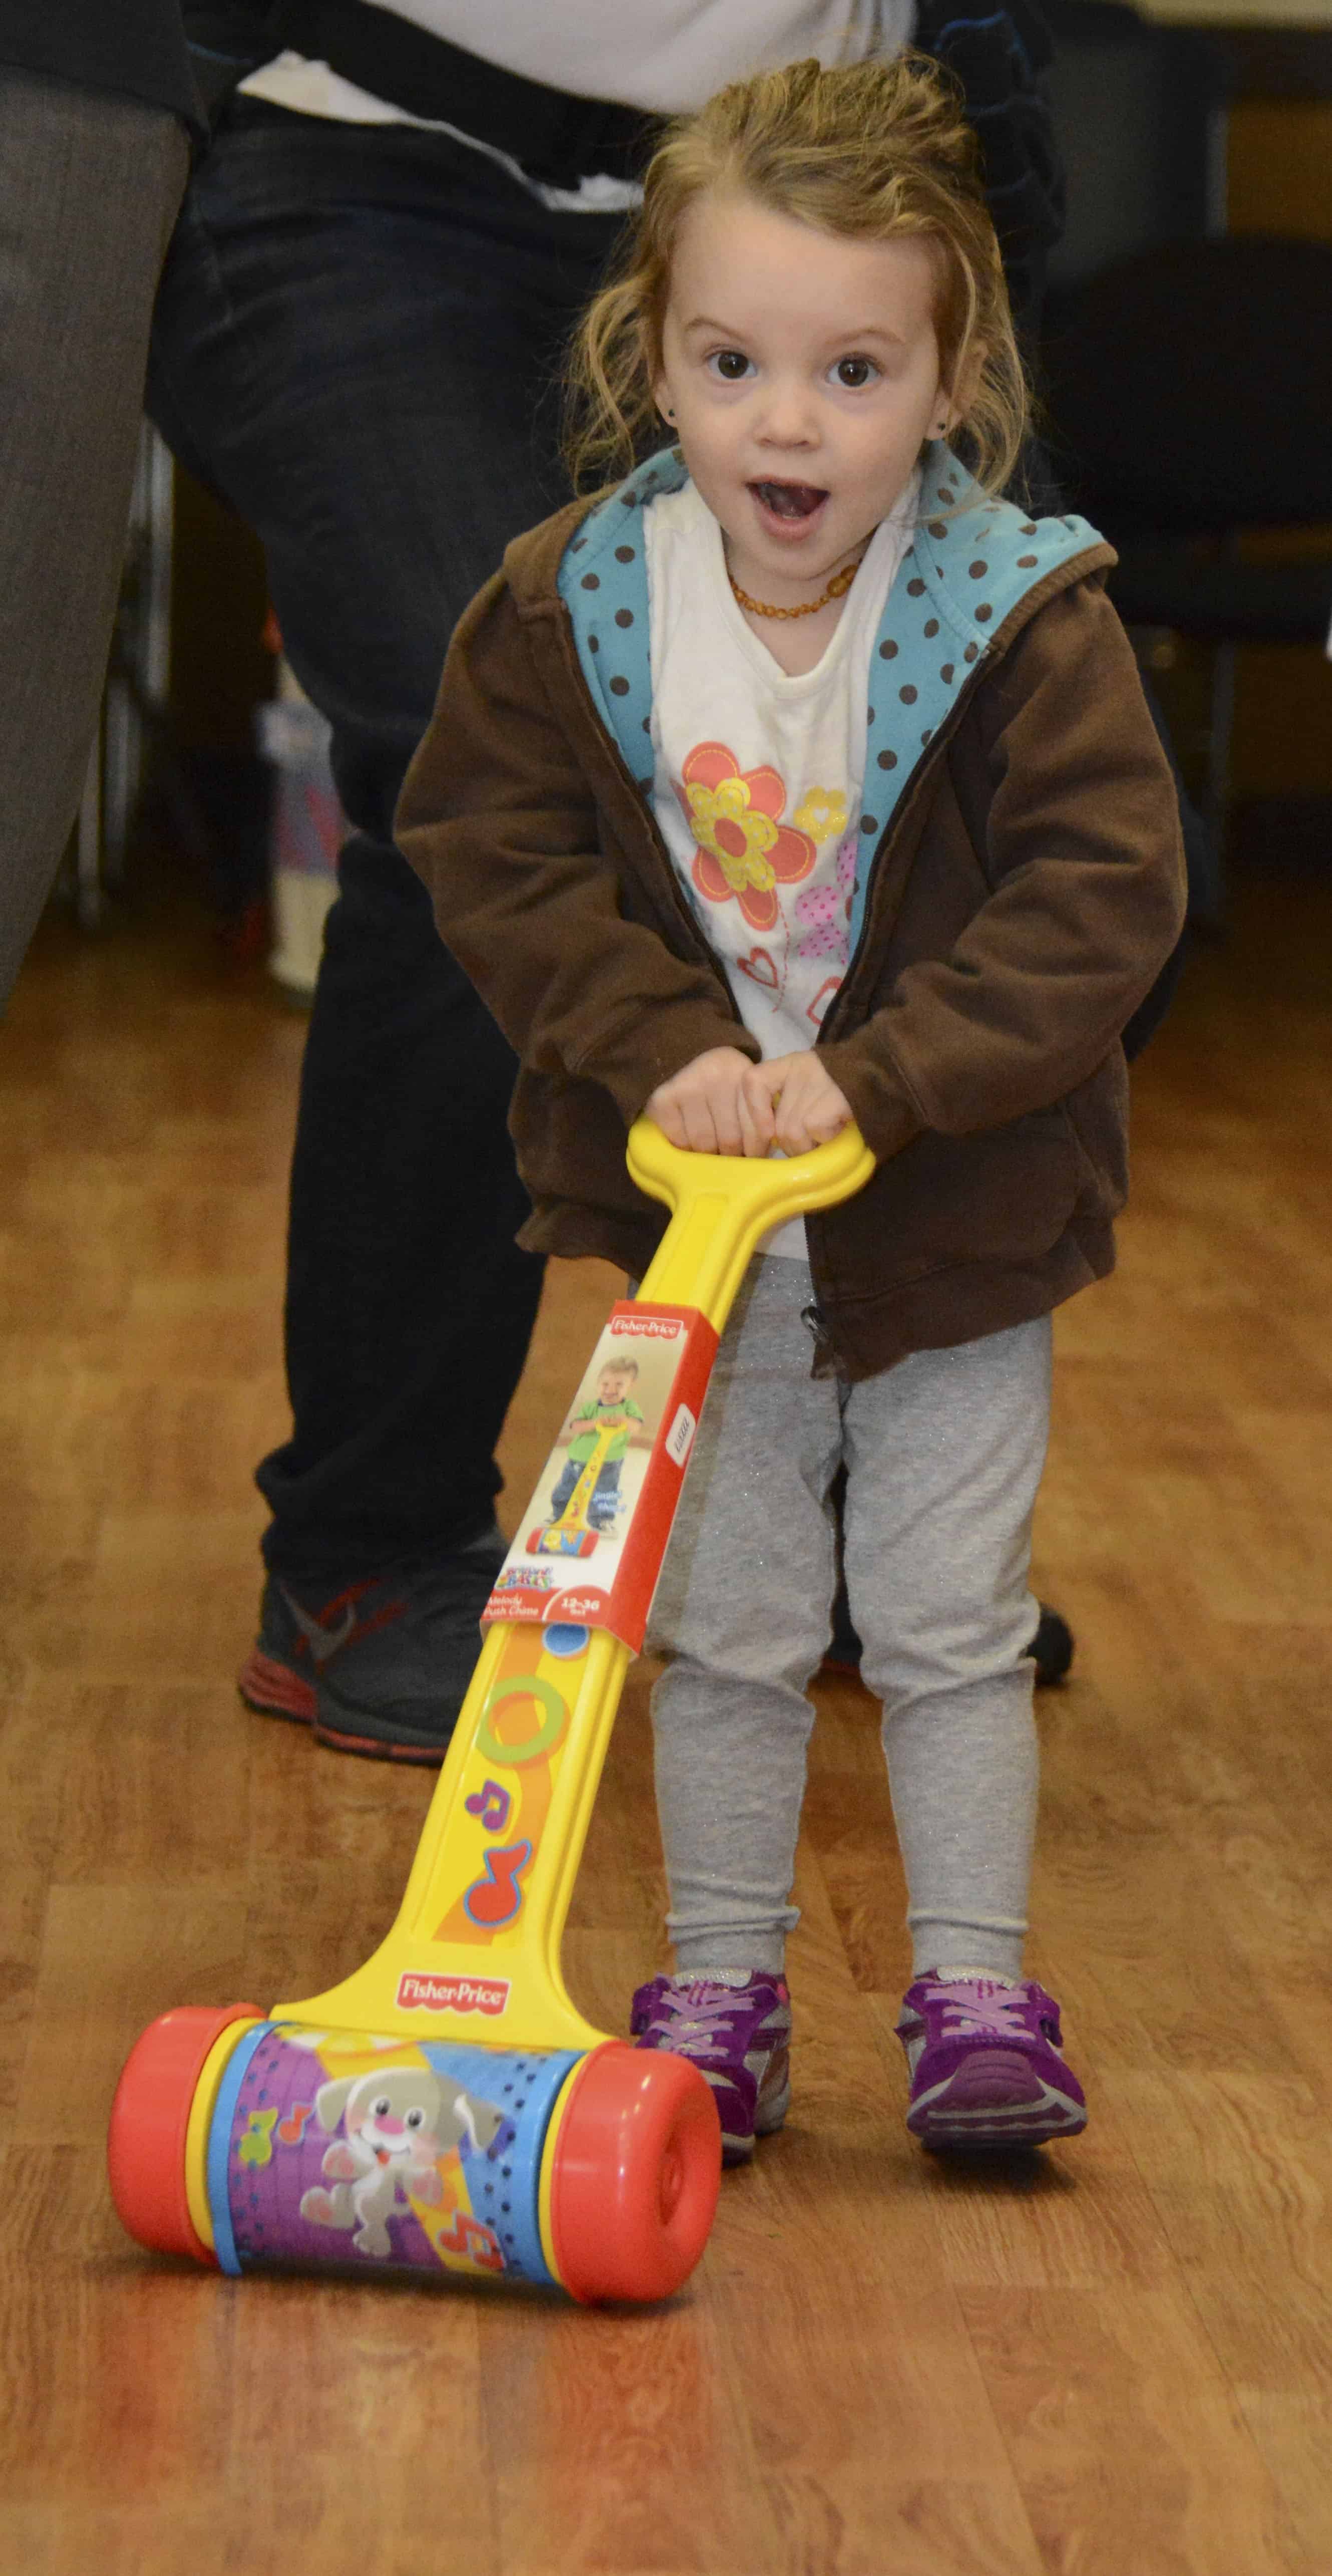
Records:
[[[675,1208],[639,1298],[701,1306],[721,1332],[755,1244],[786,1216],[855,1198],[873,1172],[858,1126],[809,1154],[685,1154],[652,1118],[629,1128],[629,1172],[649,1198]]]

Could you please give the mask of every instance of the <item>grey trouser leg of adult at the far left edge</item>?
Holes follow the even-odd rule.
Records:
[[[186,170],[167,108],[0,72],[0,1010],[82,786]]]

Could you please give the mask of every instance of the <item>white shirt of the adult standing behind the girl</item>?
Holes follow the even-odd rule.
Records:
[[[727,80],[747,80],[804,54],[824,64],[897,54],[912,39],[915,0],[616,0],[616,8],[605,0],[562,0],[559,8],[533,8],[533,0],[394,0],[392,15],[551,90],[675,116],[701,108]],[[451,134],[559,211],[618,214],[639,201],[639,188],[605,173],[580,188],[546,188],[508,152],[435,118],[410,116],[304,54],[278,54],[250,72],[242,90],[304,116]]]

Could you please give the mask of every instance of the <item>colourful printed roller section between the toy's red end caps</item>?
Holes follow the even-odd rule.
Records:
[[[219,2097],[209,2197],[224,2267],[234,2249],[240,2272],[551,2282],[541,2146],[572,2063],[271,2025]]]

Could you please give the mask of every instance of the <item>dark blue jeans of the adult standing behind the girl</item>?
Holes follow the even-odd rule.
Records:
[[[322,1582],[492,1515],[541,1262],[513,1056],[392,842],[448,634],[567,497],[559,348],[616,240],[479,152],[234,100],[157,296],[149,410],[258,528],[353,824],[301,1072],[271,1571]]]

